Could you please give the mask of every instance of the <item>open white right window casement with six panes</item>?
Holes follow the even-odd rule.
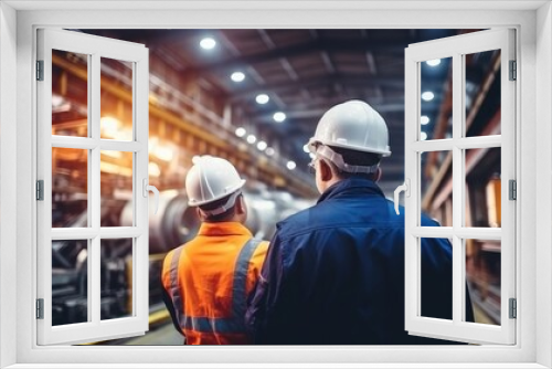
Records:
[[[516,342],[516,320],[509,318],[509,298],[516,298],[516,205],[509,200],[508,181],[516,180],[516,81],[509,81],[509,62],[516,61],[514,30],[496,29],[473,32],[411,44],[405,51],[405,179],[410,196],[405,198],[405,328],[411,335],[454,338],[466,342]],[[500,50],[501,119],[500,134],[479,137],[465,135],[465,55]],[[421,139],[421,65],[428,60],[452,59],[453,137]],[[501,150],[501,228],[465,225],[466,158],[465,149],[499,148]],[[452,226],[422,226],[420,191],[421,154],[445,150],[453,156],[453,224]],[[520,199],[521,201],[521,199]],[[452,319],[436,319],[421,315],[422,265],[420,243],[422,238],[443,238],[453,244],[453,314]],[[466,254],[464,240],[498,240],[500,253],[500,325],[465,321]]]

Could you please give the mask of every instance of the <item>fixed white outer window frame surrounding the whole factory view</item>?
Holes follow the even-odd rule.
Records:
[[[278,367],[310,367],[312,362],[327,362],[325,367],[376,368],[545,368],[552,366],[552,307],[550,262],[552,253],[543,244],[552,243],[552,196],[550,177],[552,150],[552,11],[550,1],[478,1],[405,2],[364,1],[288,2],[263,1],[243,4],[238,1],[217,3],[174,3],[109,1],[82,2],[22,2],[4,1],[0,4],[0,354],[1,366],[17,368],[85,367],[97,368],[159,368],[161,362],[178,367],[194,367],[194,362],[243,363],[237,367],[261,367],[258,363],[280,362]],[[19,11],[15,12],[13,8]],[[66,11],[47,11],[46,9]],[[62,7],[62,8],[60,8]],[[81,8],[78,8],[81,7]],[[87,10],[83,10],[86,7]],[[91,8],[96,9],[91,10]],[[129,7],[146,10],[116,11]],[[151,11],[151,7],[170,9]],[[173,9],[179,8],[180,9]],[[216,11],[212,8],[215,7]],[[244,11],[244,7],[250,10]],[[255,9],[251,9],[255,7]],[[435,10],[455,9],[450,10]],[[474,7],[474,8],[470,8]],[[477,9],[476,9],[477,7]],[[501,7],[508,7],[501,9]],[[539,9],[540,7],[540,9]],[[24,10],[26,8],[26,10]],[[31,9],[31,10],[29,10]],[[15,22],[17,20],[17,22]],[[537,24],[537,29],[535,29]],[[32,283],[35,265],[35,224],[29,219],[35,211],[33,200],[36,137],[35,116],[30,106],[33,95],[33,65],[35,29],[39,27],[66,28],[516,28],[518,45],[518,126],[517,145],[520,168],[518,194],[522,199],[517,257],[518,344],[516,346],[456,346],[456,347],[38,347],[34,320],[35,287]],[[537,30],[539,32],[537,32]],[[17,34],[17,42],[15,42]],[[539,84],[537,83],[539,75]],[[13,75],[17,75],[17,80]],[[9,81],[9,85],[4,84]],[[15,89],[17,86],[17,89]],[[13,96],[15,89],[17,98]],[[537,94],[538,92],[538,94]],[[17,122],[17,125],[13,124]],[[15,129],[17,126],[17,129]],[[523,133],[521,134],[521,128]],[[537,134],[538,131],[538,134]],[[15,143],[17,161],[13,152]],[[539,156],[537,156],[537,149]],[[11,157],[10,157],[11,155]],[[538,171],[537,168],[545,168]],[[539,179],[539,180],[537,180]],[[13,191],[17,189],[17,199]],[[11,192],[10,192],[11,191]],[[539,201],[535,193],[539,192]],[[15,220],[6,221],[17,214]],[[539,217],[537,217],[539,215]],[[537,226],[535,226],[537,224]],[[10,229],[9,226],[12,226]],[[539,240],[539,243],[537,242]],[[17,244],[6,246],[6,242]],[[521,252],[522,249],[523,251]],[[17,261],[17,264],[13,262]],[[538,276],[538,278],[537,278]],[[13,283],[15,281],[15,283]],[[537,288],[534,287],[537,285]],[[29,288],[29,286],[33,286]],[[538,294],[537,294],[538,292]],[[17,317],[17,318],[13,318]],[[539,321],[539,324],[537,324]],[[15,339],[13,339],[15,337]],[[183,365],[185,361],[188,365]],[[153,362],[149,365],[150,362]],[[393,362],[395,365],[393,365]],[[455,363],[456,362],[456,363]],[[25,365],[29,363],[29,365]],[[32,363],[32,365],[31,365]],[[248,363],[248,366],[247,366]],[[291,363],[296,363],[293,366]],[[433,365],[431,365],[433,363]],[[461,363],[461,365],[459,365]],[[199,367],[198,365],[197,367]],[[322,365],[320,365],[322,366]],[[51,367],[51,366],[50,366]],[[136,366],[138,367],[138,366]],[[167,365],[166,367],[171,367]],[[176,366],[174,366],[176,367]],[[15,367],[14,367],[15,368]]]

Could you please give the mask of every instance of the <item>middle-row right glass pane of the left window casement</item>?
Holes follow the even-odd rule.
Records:
[[[134,154],[102,150],[100,160],[102,226],[119,226],[125,203],[132,202]]]

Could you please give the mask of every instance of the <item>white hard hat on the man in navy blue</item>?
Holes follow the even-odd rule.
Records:
[[[322,115],[308,145],[317,143],[384,157],[391,155],[385,120],[358,99],[336,105]]]

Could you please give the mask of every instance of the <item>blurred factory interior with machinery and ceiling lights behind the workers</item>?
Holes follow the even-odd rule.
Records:
[[[330,106],[360,98],[389,125],[393,154],[383,161],[380,186],[391,198],[404,180],[404,49],[474,30],[75,31],[142,43],[150,51],[149,178],[161,191],[159,211],[150,213],[149,223],[151,330],[149,339],[109,344],[179,345],[161,302],[159,274],[166,253],[192,238],[199,226],[183,194],[192,158],[223,157],[247,178],[247,226],[269,239],[277,221],[318,197],[305,147],[318,119]],[[500,129],[497,57],[482,53],[467,60],[471,135]],[[88,57],[55,51],[52,63],[52,134],[86,137]],[[102,59],[100,73],[100,136],[128,140],[132,65]],[[421,135],[449,137],[450,63],[434,61],[422,65],[421,73],[424,92],[432,93],[422,104]],[[85,226],[88,221],[88,155],[52,149],[54,228]],[[422,158],[421,210],[444,225],[452,219],[449,156],[427,152]],[[470,150],[466,158],[466,222],[500,226],[500,150]],[[102,225],[131,224],[132,155],[106,150],[100,160]],[[87,246],[81,240],[53,243],[54,325],[86,319]],[[466,244],[466,275],[480,323],[499,324],[499,253],[500,244]],[[102,255],[102,318],[127,316],[132,312],[132,240],[103,240]]]

